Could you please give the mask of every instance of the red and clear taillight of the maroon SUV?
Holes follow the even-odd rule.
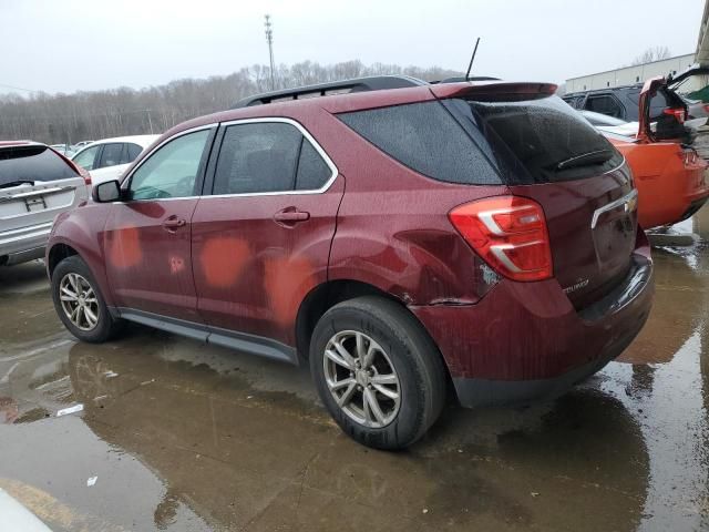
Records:
[[[513,280],[553,275],[552,249],[541,205],[520,196],[497,196],[459,205],[449,218],[497,273]]]

